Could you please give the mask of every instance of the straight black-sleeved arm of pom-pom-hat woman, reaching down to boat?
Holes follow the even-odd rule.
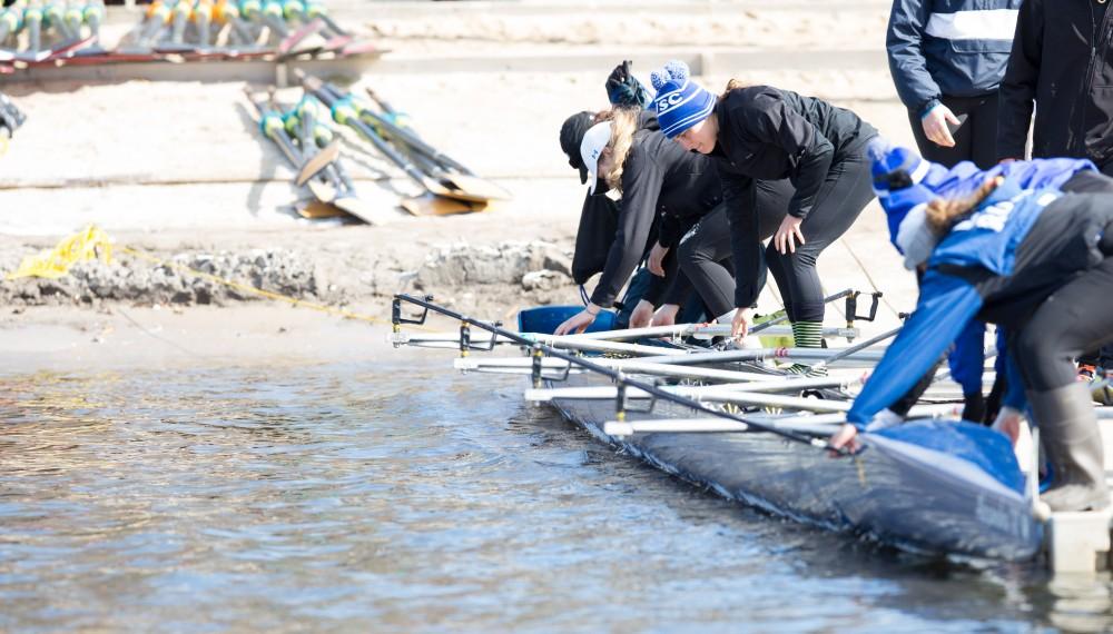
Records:
[[[749,308],[758,300],[765,271],[765,246],[755,209],[755,181],[719,169],[722,201],[730,227],[730,252],[735,265],[735,306]],[[715,317],[715,315],[712,315]]]

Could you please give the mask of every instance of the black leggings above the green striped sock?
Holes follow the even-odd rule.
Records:
[[[800,225],[806,242],[797,245],[796,252],[784,255],[771,241],[766,248],[766,262],[780,288],[790,321],[824,320],[826,305],[816,260],[854,225],[874,198],[870,161],[866,156],[868,141],[856,142],[831,164],[811,212]]]

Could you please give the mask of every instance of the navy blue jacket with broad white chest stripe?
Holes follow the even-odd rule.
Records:
[[[997,90],[1022,0],[895,0],[885,46],[908,110]]]

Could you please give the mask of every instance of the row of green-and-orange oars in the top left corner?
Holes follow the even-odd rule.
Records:
[[[101,0],[17,0],[0,10],[0,62],[46,62],[102,52]]]

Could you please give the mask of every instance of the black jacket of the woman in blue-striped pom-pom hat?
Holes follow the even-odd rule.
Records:
[[[849,110],[770,86],[731,90],[715,112],[719,135],[712,156],[720,160],[728,202],[732,190],[746,190],[750,178],[787,178],[796,188],[788,212],[797,218],[811,211],[831,165],[877,136]],[[742,187],[728,188],[728,180],[738,177]]]

